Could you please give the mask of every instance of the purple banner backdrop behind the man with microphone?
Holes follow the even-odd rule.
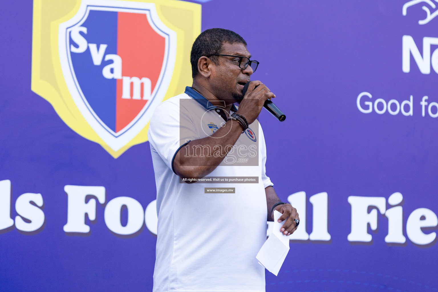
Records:
[[[306,192],[307,234],[314,218],[309,197],[328,194],[330,240],[291,241],[279,275],[266,272],[267,291],[437,291],[438,18],[433,1],[407,7],[403,15],[406,2],[202,4],[202,30],[221,27],[242,35],[260,62],[251,78],[276,93],[287,115],[279,123],[261,113],[267,174],[282,200]],[[65,185],[105,186],[106,202],[133,197],[144,209],[155,199],[148,142],[115,159],[67,127],[30,89],[32,1],[0,6],[0,180],[11,180],[12,219],[23,193],[41,193],[45,215],[39,232],[1,231],[0,291],[151,291],[156,239],[145,226],[135,236],[116,236],[105,225],[105,206],[97,203],[96,220],[86,218],[90,234],[67,236],[63,230]],[[430,21],[419,24],[426,10]],[[362,92],[368,95],[358,107]],[[385,242],[391,215],[381,213],[392,207],[388,198],[396,192],[403,195],[403,221],[391,218],[394,226],[402,224],[404,243]],[[349,240],[357,215],[352,206],[367,210],[351,198],[350,204],[350,196],[384,198],[384,208],[379,203],[368,215],[371,241]],[[373,204],[369,209],[378,207]],[[431,211],[413,213],[419,208]],[[367,215],[357,216],[360,221]],[[354,224],[368,224],[359,221]]]

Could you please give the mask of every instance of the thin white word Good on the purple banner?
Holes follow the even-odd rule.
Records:
[[[365,106],[367,106],[368,108],[364,109],[360,105],[361,99],[364,96],[367,96],[368,98],[372,99],[372,95],[369,92],[366,91],[361,92],[359,95],[357,95],[357,99],[356,99],[357,109],[359,109],[361,113],[371,113],[373,111],[373,103],[371,101],[364,102]],[[395,109],[393,108],[392,105],[395,105]],[[406,106],[407,108],[409,108],[408,111],[405,110]],[[393,116],[398,114],[400,111],[402,112],[403,116],[413,116],[413,96],[411,95],[409,100],[404,100],[401,105],[396,99],[391,99],[388,102],[388,104],[386,104],[385,99],[376,99],[374,102],[374,111],[379,115],[382,115],[386,112],[386,110],[388,110],[388,113],[390,113]]]

